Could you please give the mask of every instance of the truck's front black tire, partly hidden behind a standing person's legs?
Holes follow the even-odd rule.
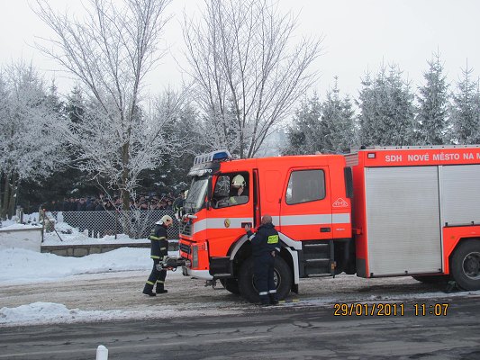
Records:
[[[281,257],[275,259],[276,296],[283,300],[292,289],[292,272]],[[258,290],[253,282],[253,257],[249,257],[240,267],[240,295],[249,302],[259,302]]]

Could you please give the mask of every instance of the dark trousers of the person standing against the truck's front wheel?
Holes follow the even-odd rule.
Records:
[[[255,285],[262,303],[269,303],[270,299],[276,300],[274,266],[275,257],[272,257],[270,253],[254,258]]]

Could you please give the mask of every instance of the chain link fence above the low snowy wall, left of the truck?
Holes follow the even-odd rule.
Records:
[[[173,225],[168,238],[178,238],[178,221],[172,210],[133,211],[46,211],[40,215],[43,223],[43,239],[69,234],[84,233],[89,238],[104,238],[125,234],[129,238],[148,238],[155,222],[170,215]]]

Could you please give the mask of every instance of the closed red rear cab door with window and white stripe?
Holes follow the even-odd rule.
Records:
[[[294,240],[329,239],[331,189],[328,166],[295,167],[280,201],[280,229]]]

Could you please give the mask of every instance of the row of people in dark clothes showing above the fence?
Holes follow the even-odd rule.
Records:
[[[185,193],[175,196],[173,193],[140,194],[136,199],[130,200],[130,210],[173,210],[178,211],[183,207]],[[120,196],[109,198],[104,193],[97,196],[65,197],[63,200],[52,200],[41,205],[46,211],[114,211],[122,210]]]

